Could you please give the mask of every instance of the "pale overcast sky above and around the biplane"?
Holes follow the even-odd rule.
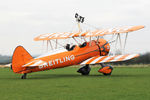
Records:
[[[131,32],[130,53],[150,52],[150,0],[0,0],[0,54],[12,55],[22,45],[31,55],[41,53],[43,33],[70,32],[74,14],[98,28],[144,25]]]

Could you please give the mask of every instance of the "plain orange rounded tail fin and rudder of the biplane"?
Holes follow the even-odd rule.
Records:
[[[22,65],[26,64],[33,57],[22,47],[16,47],[12,56],[12,70],[15,73],[21,73],[23,71]]]

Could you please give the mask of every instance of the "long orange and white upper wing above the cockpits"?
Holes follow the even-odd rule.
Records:
[[[35,41],[40,40],[51,40],[51,39],[66,39],[66,38],[73,38],[73,37],[94,37],[94,36],[104,36],[107,34],[118,34],[118,33],[127,33],[136,31],[139,29],[144,28],[143,25],[141,26],[125,26],[125,27],[118,27],[118,28],[110,28],[110,29],[101,29],[96,31],[85,31],[85,32],[63,32],[63,33],[46,33],[34,38]]]

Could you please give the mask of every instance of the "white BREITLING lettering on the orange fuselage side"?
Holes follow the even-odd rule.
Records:
[[[63,64],[66,61],[72,61],[74,59],[75,59],[75,56],[74,55],[70,55],[70,56],[66,56],[66,57],[63,57],[63,58],[50,60],[45,65],[40,65],[39,69],[47,68],[49,66],[54,66],[54,65],[57,65],[57,64]]]

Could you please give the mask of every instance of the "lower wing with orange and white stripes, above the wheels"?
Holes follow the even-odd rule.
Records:
[[[132,58],[136,58],[138,56],[139,54],[126,54],[126,55],[117,55],[117,56],[95,56],[83,61],[80,65],[125,61]]]

